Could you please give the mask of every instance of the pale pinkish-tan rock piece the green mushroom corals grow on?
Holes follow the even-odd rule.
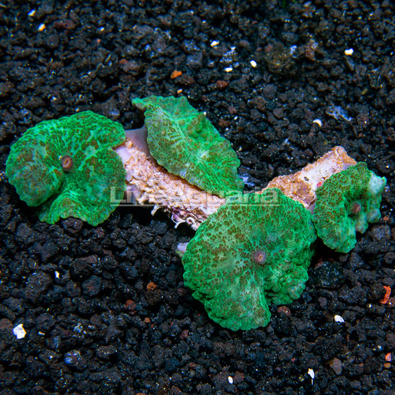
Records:
[[[176,226],[186,222],[193,230],[197,230],[208,215],[215,213],[226,201],[169,173],[151,156],[135,147],[130,140],[115,150],[123,160],[128,190],[133,195],[133,199],[130,200],[137,204],[152,205],[152,214],[158,208],[162,208],[171,215]],[[343,147],[334,147],[297,173],[274,178],[267,187],[279,188],[291,199],[311,209],[315,203],[315,190],[322,182],[355,163]]]

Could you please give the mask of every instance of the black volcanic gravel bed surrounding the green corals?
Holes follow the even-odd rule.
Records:
[[[395,8],[328,3],[0,4],[1,395],[394,394],[394,299],[380,300],[394,287]],[[131,128],[130,99],[147,95],[206,111],[249,189],[343,145],[387,178],[381,221],[350,254],[319,244],[302,297],[267,327],[221,328],[183,285],[186,226],[130,207],[95,228],[41,223],[4,173],[39,121],[93,110]]]

